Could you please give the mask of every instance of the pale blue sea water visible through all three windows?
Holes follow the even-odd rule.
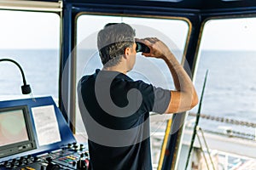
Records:
[[[101,68],[95,52],[86,56],[79,52],[77,80]],[[32,86],[34,96],[53,96],[58,99],[60,72],[59,51],[56,49],[1,49],[0,59],[15,59],[25,71],[26,82]],[[179,59],[181,61],[181,58]],[[186,62],[185,62],[186,63]],[[256,123],[256,52],[254,51],[202,51],[196,66],[195,88],[201,97],[202,85],[208,70],[207,85],[202,100],[201,114],[219,116],[244,122]],[[187,68],[188,69],[188,68]],[[157,87],[174,89],[171,74],[161,59],[146,59],[139,55],[129,76],[135,80],[152,83]],[[14,64],[0,63],[0,96],[21,96],[22,79]],[[196,106],[191,112],[197,112]],[[214,123],[200,121],[200,126],[216,127]],[[250,128],[245,129],[253,133]]]

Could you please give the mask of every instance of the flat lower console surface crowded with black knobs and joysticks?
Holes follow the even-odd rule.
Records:
[[[89,169],[90,156],[84,144],[67,144],[59,150],[53,150],[38,156],[20,156],[0,162],[1,170],[57,170],[57,169]]]

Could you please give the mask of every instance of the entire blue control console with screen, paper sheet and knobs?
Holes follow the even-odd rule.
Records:
[[[87,144],[78,144],[51,97],[0,101],[0,170],[88,170]]]

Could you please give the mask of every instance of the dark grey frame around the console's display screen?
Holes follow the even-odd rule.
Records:
[[[24,121],[26,124],[26,133],[28,140],[20,141],[14,144],[6,144],[0,146],[0,158],[5,156],[12,156],[21,152],[36,149],[35,136],[32,129],[32,118],[28,111],[27,105],[11,106],[6,108],[0,108],[0,114],[6,111],[22,111]]]

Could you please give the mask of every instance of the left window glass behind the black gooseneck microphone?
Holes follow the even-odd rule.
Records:
[[[60,17],[54,13],[0,10],[0,59],[22,67],[34,97],[58,99]],[[0,100],[30,98],[21,94],[18,67],[0,63]]]

